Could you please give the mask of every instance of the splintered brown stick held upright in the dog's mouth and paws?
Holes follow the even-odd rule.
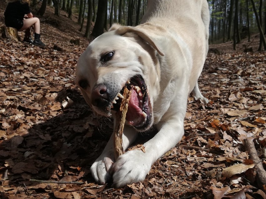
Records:
[[[114,130],[114,149],[115,149],[115,161],[118,156],[124,154],[122,146],[122,135],[124,124],[126,121],[126,112],[128,108],[128,102],[130,99],[131,91],[126,87],[124,88],[123,99],[119,111],[116,112],[116,127]]]

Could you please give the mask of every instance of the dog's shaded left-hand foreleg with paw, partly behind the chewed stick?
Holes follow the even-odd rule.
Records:
[[[136,139],[136,137],[137,132],[135,129],[125,126],[122,135],[123,149],[127,149],[128,146]],[[109,181],[111,179],[110,171],[114,162],[114,134],[112,134],[102,154],[91,166],[91,174],[93,178],[101,184],[105,184],[107,181]]]

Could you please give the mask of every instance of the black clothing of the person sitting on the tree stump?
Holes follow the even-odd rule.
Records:
[[[21,3],[19,0],[7,4],[5,16],[5,25],[7,27],[21,29],[23,26],[23,17],[29,14],[30,7],[28,3]]]

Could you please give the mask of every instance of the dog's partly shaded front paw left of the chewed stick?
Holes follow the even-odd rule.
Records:
[[[100,184],[105,184],[111,180],[111,168],[113,166],[114,160],[108,157],[101,158],[101,156],[96,159],[96,161],[91,165],[91,175]]]

